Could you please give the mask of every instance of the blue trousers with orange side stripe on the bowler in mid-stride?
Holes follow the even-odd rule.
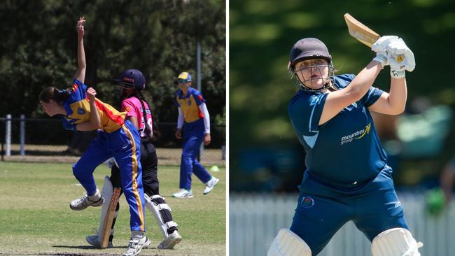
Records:
[[[98,131],[98,136],[89,148],[73,164],[73,174],[87,190],[87,195],[97,191],[93,171],[107,159],[114,157],[120,167],[120,179],[125,198],[130,206],[130,226],[132,231],[145,231],[144,188],[142,187],[141,139],[134,125],[125,120],[125,124],[112,133]]]

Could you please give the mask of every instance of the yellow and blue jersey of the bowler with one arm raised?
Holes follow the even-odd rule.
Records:
[[[87,85],[74,79],[73,86],[67,90],[69,97],[64,101],[66,111],[66,116],[63,118],[64,127],[88,122],[90,120],[90,103],[87,97]],[[98,108],[100,129],[111,133],[122,127],[126,112],[119,112],[99,99],[95,99],[95,106]]]

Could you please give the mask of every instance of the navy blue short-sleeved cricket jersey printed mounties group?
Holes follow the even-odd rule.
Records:
[[[351,74],[335,76],[334,86],[342,89],[353,78]],[[368,111],[382,93],[371,87],[362,99],[323,125],[318,123],[328,94],[303,90],[295,94],[288,115],[306,152],[305,164],[311,178],[348,188],[374,178],[384,169],[386,152]]]

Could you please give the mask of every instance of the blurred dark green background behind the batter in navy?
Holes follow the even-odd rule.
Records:
[[[230,190],[297,190],[304,152],[287,115],[296,92],[286,72],[289,51],[300,38],[316,37],[328,46],[338,73],[358,73],[374,52],[349,36],[344,13],[381,35],[400,36],[413,50],[416,69],[407,73],[407,113],[398,120],[398,133],[405,138],[425,128],[429,131],[422,136],[428,138],[399,143],[407,153],[390,147],[394,178],[402,187],[437,185],[440,169],[455,153],[453,0],[246,0],[230,1],[229,11]],[[388,91],[389,85],[387,67],[374,86]],[[436,114],[425,112],[440,105]],[[436,115],[445,118],[442,125]],[[428,141],[432,150],[412,153],[425,149]]]

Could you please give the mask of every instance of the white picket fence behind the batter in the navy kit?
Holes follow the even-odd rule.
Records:
[[[232,256],[265,256],[274,236],[290,227],[297,194],[230,194],[229,250]],[[424,192],[398,193],[409,229],[423,242],[422,256],[455,255],[455,206],[437,216],[425,210]],[[374,220],[372,220],[374,221]],[[339,229],[318,256],[368,256],[370,241],[352,222]]]

